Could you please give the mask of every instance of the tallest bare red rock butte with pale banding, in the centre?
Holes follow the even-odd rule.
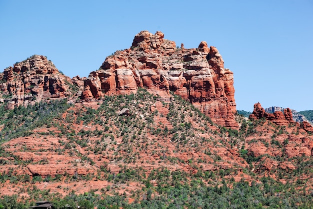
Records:
[[[81,98],[131,94],[138,88],[169,99],[170,91],[190,101],[223,126],[237,127],[234,120],[233,73],[215,47],[201,42],[198,48],[176,48],[173,41],[142,31],[130,49],[116,51],[98,71],[84,81]],[[182,44],[183,46],[183,44]]]

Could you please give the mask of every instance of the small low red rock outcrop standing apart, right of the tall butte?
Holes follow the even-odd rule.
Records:
[[[274,113],[267,113],[262,108],[260,103],[254,104],[252,114],[249,115],[249,119],[261,119],[266,118],[267,120],[277,125],[288,125],[289,123],[295,123],[292,119],[292,112],[289,108],[281,111],[275,111]]]

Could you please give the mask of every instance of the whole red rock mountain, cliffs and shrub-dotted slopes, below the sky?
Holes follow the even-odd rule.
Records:
[[[0,208],[312,206],[313,127],[289,108],[236,112],[206,42],[143,31],[88,78],[34,55],[0,88]]]

